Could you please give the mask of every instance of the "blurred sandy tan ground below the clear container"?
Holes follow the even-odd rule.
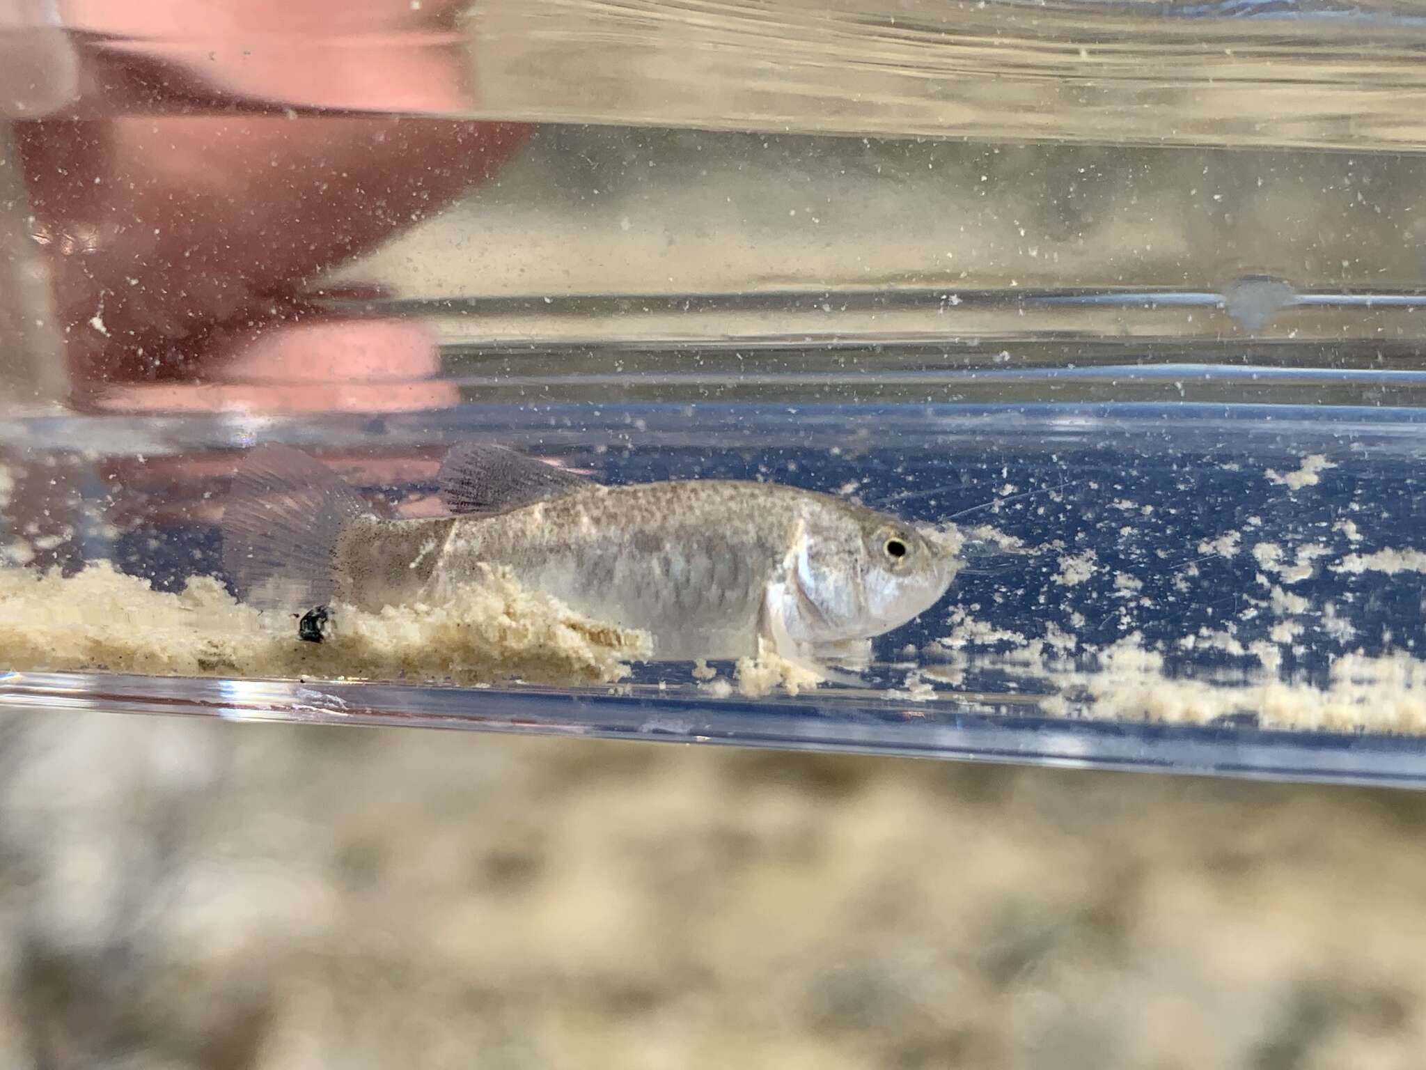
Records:
[[[0,1064],[1416,1067],[1426,798],[7,720]]]

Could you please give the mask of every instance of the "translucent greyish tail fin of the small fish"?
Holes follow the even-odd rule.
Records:
[[[337,593],[337,541],[371,512],[331,468],[291,447],[250,451],[222,512],[222,565],[260,609],[324,606]]]

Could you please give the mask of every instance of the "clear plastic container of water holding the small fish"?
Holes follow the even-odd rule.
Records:
[[[1409,6],[16,11],[0,703],[1426,776]],[[518,575],[339,651],[224,589],[242,451],[416,518],[472,439],[964,566],[820,686]]]

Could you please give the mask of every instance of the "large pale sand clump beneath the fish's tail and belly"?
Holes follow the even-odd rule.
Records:
[[[327,642],[308,643],[210,578],[165,593],[107,562],[68,578],[0,569],[0,651],[14,671],[572,685],[617,681],[652,649],[646,632],[579,616],[498,569],[441,606],[334,618]]]

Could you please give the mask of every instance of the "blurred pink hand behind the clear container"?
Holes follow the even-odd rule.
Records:
[[[354,114],[473,106],[452,7],[61,6],[71,29],[118,40],[86,54],[70,117],[19,124],[81,401],[270,411],[453,401],[445,384],[421,382],[436,370],[422,327],[332,320],[301,297],[314,275],[441,211],[522,143],[515,124]],[[76,117],[100,104],[120,117]],[[308,114],[319,108],[344,114]]]

